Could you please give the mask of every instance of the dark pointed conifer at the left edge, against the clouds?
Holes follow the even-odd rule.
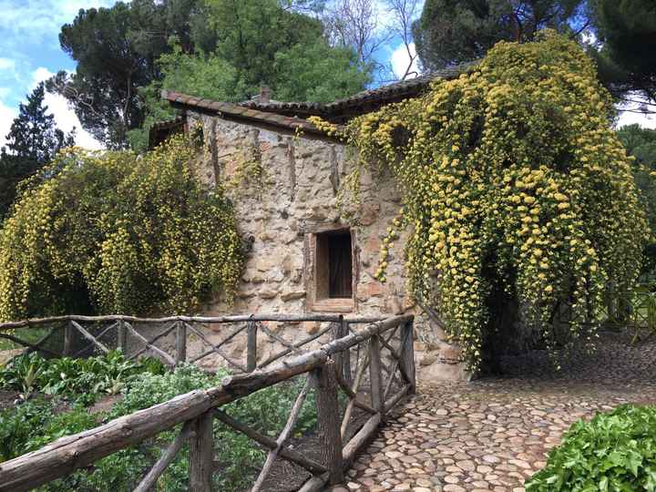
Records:
[[[56,128],[55,117],[44,104],[45,95],[44,85],[39,84],[19,106],[6,136],[7,146],[0,152],[0,219],[14,202],[18,183],[43,168],[59,149],[75,143],[75,130],[66,136]]]

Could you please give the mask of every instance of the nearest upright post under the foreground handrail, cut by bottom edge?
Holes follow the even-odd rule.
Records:
[[[190,492],[212,490],[213,420],[214,412],[210,410],[196,417],[191,424],[191,432],[194,436],[190,441]]]

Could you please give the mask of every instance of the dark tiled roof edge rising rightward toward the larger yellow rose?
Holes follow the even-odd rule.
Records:
[[[272,113],[295,114],[305,118],[308,116],[320,116],[329,120],[340,117],[349,118],[368,112],[371,110],[372,105],[382,106],[408,97],[416,97],[431,82],[437,79],[451,80],[457,78],[476,67],[478,63],[478,61],[468,62],[456,67],[445,68],[424,76],[402,80],[395,84],[364,90],[354,94],[354,96],[344,97],[327,104],[315,102],[259,102],[257,99],[251,99],[241,102],[240,106]],[[349,109],[351,111],[348,111]]]

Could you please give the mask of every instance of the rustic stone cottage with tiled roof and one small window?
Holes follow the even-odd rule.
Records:
[[[177,131],[201,132],[205,151],[195,171],[210,186],[227,183],[241,236],[249,243],[231,313],[415,313],[420,377],[467,377],[459,352],[406,294],[403,246],[393,251],[387,282],[374,278],[381,242],[401,206],[392,176],[384,170],[363,174],[358,210],[344,213],[339,191],[354,168],[354,150],[307,120],[318,116],[343,124],[385,104],[417,97],[436,77],[457,77],[465,69],[416,77],[329,104],[274,101],[266,87],[240,104],[162,92],[180,116],[152,128],[150,145]],[[233,190],[231,183],[237,183]],[[220,300],[207,306],[208,314],[227,310]],[[294,329],[306,336],[319,327],[303,323]]]

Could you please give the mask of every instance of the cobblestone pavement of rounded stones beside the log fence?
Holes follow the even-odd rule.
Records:
[[[420,384],[349,471],[362,491],[523,491],[579,418],[623,403],[656,403],[656,343],[602,335],[554,374],[546,354],[504,362],[504,376]]]

